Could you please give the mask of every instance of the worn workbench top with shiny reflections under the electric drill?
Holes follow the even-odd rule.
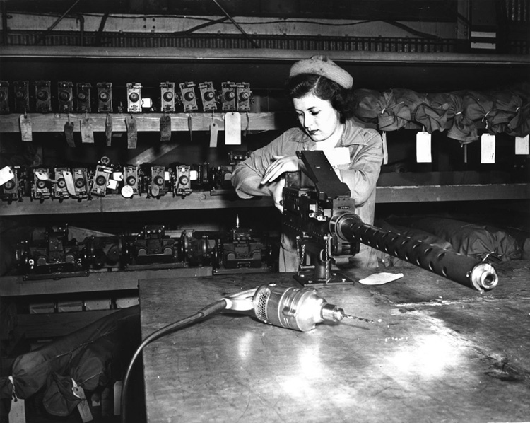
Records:
[[[298,332],[212,316],[144,350],[148,422],[528,422],[529,266],[496,266],[485,294],[418,267],[389,268],[404,277],[382,286],[319,289],[375,324]],[[298,286],[290,274],[140,281],[143,337],[273,282]]]

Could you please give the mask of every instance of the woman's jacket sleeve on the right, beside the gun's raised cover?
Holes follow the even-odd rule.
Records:
[[[358,145],[351,156],[349,169],[341,170],[341,177],[351,190],[355,204],[362,206],[375,190],[383,163],[383,143],[377,131],[363,130],[367,143]],[[355,147],[355,146],[354,146]]]

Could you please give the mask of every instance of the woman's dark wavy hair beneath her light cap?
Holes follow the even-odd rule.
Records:
[[[353,116],[355,105],[353,91],[343,88],[325,76],[299,74],[292,76],[286,83],[287,93],[291,99],[302,98],[312,93],[321,100],[329,100],[331,106],[341,115],[341,122]]]

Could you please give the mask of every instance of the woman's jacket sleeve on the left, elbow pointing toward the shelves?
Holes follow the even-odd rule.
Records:
[[[273,156],[285,156],[290,153],[285,140],[289,131],[271,141],[270,144],[253,151],[247,160],[238,163],[232,173],[232,185],[240,198],[271,195],[269,185],[261,185],[261,178],[273,161]]]

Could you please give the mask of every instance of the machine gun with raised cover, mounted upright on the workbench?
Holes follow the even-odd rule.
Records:
[[[283,231],[297,240],[303,285],[346,283],[332,270],[343,255],[355,255],[360,243],[430,270],[477,291],[495,288],[495,268],[396,231],[365,224],[355,214],[348,185],[338,179],[324,152],[298,151],[305,171],[286,175],[283,189]]]

